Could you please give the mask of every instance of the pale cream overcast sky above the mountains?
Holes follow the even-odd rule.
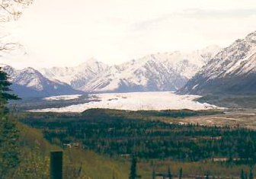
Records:
[[[120,64],[152,53],[229,46],[256,30],[255,0],[35,0],[1,24],[21,50],[16,68]]]

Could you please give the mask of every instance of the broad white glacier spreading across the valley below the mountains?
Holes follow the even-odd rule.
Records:
[[[69,107],[30,110],[31,112],[81,113],[93,108],[115,110],[210,110],[219,109],[215,105],[195,101],[198,95],[178,95],[171,91],[131,92],[89,94],[90,100],[85,104]]]

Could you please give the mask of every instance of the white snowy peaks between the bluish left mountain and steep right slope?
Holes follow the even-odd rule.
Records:
[[[219,52],[208,46],[192,53],[157,53],[119,66],[89,59],[77,67],[40,69],[51,80],[89,92],[176,91]]]

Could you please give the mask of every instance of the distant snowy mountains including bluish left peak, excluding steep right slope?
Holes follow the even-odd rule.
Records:
[[[76,67],[17,70],[3,69],[11,77],[12,88],[21,97],[81,94],[85,92],[177,91],[217,52],[209,46],[192,53],[156,53],[119,66],[107,66],[88,59]]]

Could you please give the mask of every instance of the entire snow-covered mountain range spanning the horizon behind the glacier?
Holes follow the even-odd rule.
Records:
[[[116,66],[88,59],[75,67],[2,68],[21,97],[130,91],[256,94],[256,32],[224,49],[155,53]]]

